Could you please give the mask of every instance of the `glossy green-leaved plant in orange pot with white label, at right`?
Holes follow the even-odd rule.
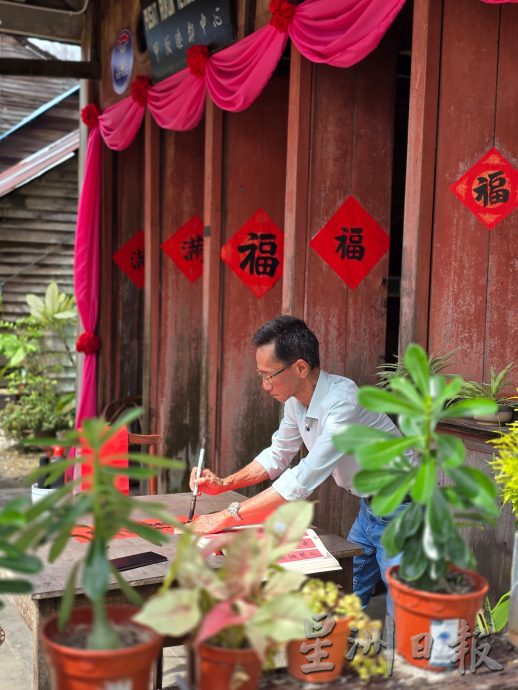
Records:
[[[491,479],[465,464],[463,442],[438,433],[437,425],[451,417],[490,414],[496,403],[472,399],[449,404],[458,397],[463,380],[433,375],[419,345],[409,345],[404,361],[409,378],[392,379],[386,390],[365,386],[358,394],[366,409],[397,415],[402,437],[350,425],[335,436],[335,444],[356,455],[361,469],[355,487],[372,496],[371,508],[377,515],[390,515],[410,496],[383,535],[388,556],[402,555],[401,564],[387,574],[396,648],[413,664],[442,670],[450,665],[452,649],[444,644],[441,654],[437,640],[455,641],[460,620],[473,630],[488,590],[484,578],[471,570],[474,557],[459,526],[471,520],[494,524],[499,511]],[[431,654],[414,659],[411,638],[424,633],[436,644]]]

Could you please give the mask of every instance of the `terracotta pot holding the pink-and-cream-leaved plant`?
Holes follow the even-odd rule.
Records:
[[[254,649],[225,649],[202,642],[195,648],[196,690],[229,690],[242,673],[239,690],[255,690],[262,663]],[[245,674],[248,679],[245,679]]]

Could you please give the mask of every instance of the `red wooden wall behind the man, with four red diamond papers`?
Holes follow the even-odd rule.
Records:
[[[138,3],[103,12],[106,107],[118,100],[113,41],[124,27],[135,32]],[[239,3],[241,35],[268,21],[267,3],[257,3],[255,26],[245,15]],[[388,257],[349,290],[309,240],[351,194],[389,232],[396,51],[391,32],[361,65],[342,70],[312,66],[292,49],[247,110],[222,113],[209,99],[195,131],[159,131],[146,118],[125,153],[105,151],[100,406],[140,393],[148,430],[161,433],[168,455],[192,465],[205,438],[207,463],[227,474],[269,443],[280,409],[257,384],[250,339],[281,312],[307,319],[331,371],[363,383],[384,359]],[[147,73],[146,60],[137,55],[134,76]],[[220,258],[259,208],[285,233],[284,277],[261,299]],[[192,285],[159,245],[195,213],[206,237],[204,276]],[[143,291],[111,261],[138,227],[146,234]],[[332,481],[318,499],[319,522],[347,531],[354,499]]]

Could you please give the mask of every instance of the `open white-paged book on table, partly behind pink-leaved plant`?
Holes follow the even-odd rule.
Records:
[[[230,530],[225,531],[249,528],[254,528],[257,530],[258,527],[261,527],[261,525],[237,525],[236,527],[232,527]],[[219,535],[221,535],[221,532]],[[216,536],[218,535],[214,534],[202,537],[198,542],[199,546],[205,548],[208,546],[208,544],[210,544],[211,537]],[[224,554],[225,549],[223,549],[222,555]],[[324,543],[315,530],[311,528],[308,528],[304,532],[304,536],[300,540],[297,547],[293,549],[293,551],[290,551],[283,556],[278,563],[287,570],[296,570],[297,572],[304,573],[306,575],[342,569],[336,558],[326,549]]]

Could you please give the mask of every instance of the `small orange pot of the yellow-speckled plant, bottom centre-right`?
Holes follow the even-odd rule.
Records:
[[[327,652],[327,656],[321,659],[324,664],[333,664],[332,669],[313,671],[311,668],[306,668],[307,672],[305,672],[303,668],[311,667],[315,662],[311,662],[311,660],[307,658],[308,655],[313,653],[313,650],[304,653],[301,651],[301,646],[304,643],[312,646],[316,642],[316,639],[293,640],[293,642],[289,642],[286,647],[286,656],[288,661],[288,673],[290,676],[298,680],[306,681],[307,683],[329,683],[339,678],[342,675],[345,655],[349,647],[348,637],[350,620],[350,617],[337,618],[333,630],[322,638],[322,641],[331,640],[332,642],[330,646],[322,647],[322,651]]]

